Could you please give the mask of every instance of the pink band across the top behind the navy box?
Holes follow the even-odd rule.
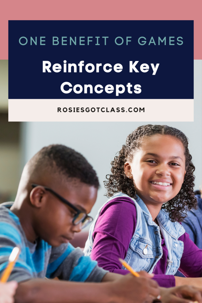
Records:
[[[8,20],[194,20],[194,59],[202,59],[201,11],[201,0],[4,0],[0,59],[8,59]]]

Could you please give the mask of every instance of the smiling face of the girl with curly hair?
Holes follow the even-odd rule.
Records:
[[[184,146],[169,135],[146,137],[124,170],[145,204],[162,205],[178,194],[184,181]]]

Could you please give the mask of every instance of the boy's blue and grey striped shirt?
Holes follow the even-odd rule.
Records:
[[[108,272],[98,267],[97,261],[84,256],[80,248],[70,243],[52,247],[42,239],[27,240],[19,218],[10,211],[13,202],[0,205],[0,275],[8,264],[15,246],[21,253],[9,277],[18,282],[31,278],[55,278],[68,281],[100,282]]]

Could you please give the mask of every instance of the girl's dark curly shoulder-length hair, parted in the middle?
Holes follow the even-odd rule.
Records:
[[[141,146],[141,141],[145,137],[152,135],[169,135],[177,138],[184,145],[185,170],[184,182],[178,194],[162,205],[166,209],[172,222],[181,222],[186,217],[187,210],[197,208],[197,200],[194,197],[194,170],[191,161],[192,156],[188,149],[188,138],[179,129],[167,125],[142,125],[127,136],[126,144],[122,146],[114,160],[111,162],[111,174],[107,175],[108,181],[104,181],[107,188],[107,196],[111,197],[117,192],[127,194],[131,198],[136,198],[133,179],[129,179],[124,174],[124,164],[132,161],[135,151]]]

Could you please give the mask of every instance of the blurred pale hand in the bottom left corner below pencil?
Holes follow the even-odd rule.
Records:
[[[18,287],[16,281],[0,283],[0,303],[13,303],[15,290]]]

